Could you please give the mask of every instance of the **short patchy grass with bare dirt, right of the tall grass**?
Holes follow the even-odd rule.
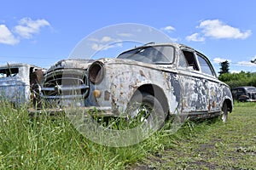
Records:
[[[167,146],[133,167],[255,169],[256,103],[236,103],[226,123],[187,122],[174,136],[175,147]]]

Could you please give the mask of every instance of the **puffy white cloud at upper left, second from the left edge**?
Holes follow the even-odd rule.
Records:
[[[50,26],[47,20],[32,20],[30,18],[23,18],[19,21],[19,25],[15,26],[15,32],[20,37],[29,39],[33,34],[39,33],[44,26]]]

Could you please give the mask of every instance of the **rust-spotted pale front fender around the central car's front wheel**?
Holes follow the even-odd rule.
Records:
[[[152,84],[162,89],[168,100],[168,107],[172,106],[171,108],[175,110],[177,99],[174,95],[171,78],[171,72],[142,65],[105,65],[102,82],[91,86],[91,89],[99,90],[102,94],[96,98],[95,105],[111,106],[112,111],[122,113],[138,88],[145,84]],[[93,94],[93,90],[90,94]]]

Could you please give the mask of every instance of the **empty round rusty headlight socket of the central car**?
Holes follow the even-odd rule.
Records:
[[[90,65],[89,79],[92,83],[102,82],[104,77],[104,65],[100,61],[96,61]]]

